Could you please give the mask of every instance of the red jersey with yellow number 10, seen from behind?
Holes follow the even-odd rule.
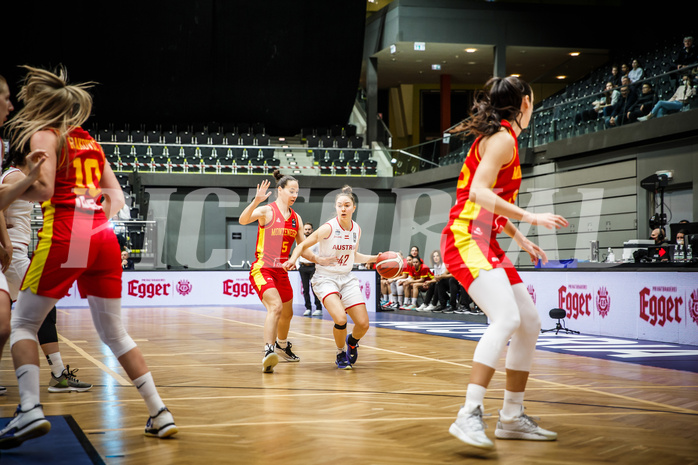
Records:
[[[102,147],[82,128],[73,128],[66,137],[63,154],[58,155],[53,196],[41,207],[46,213],[63,215],[86,214],[106,221],[100,198],[106,159]]]

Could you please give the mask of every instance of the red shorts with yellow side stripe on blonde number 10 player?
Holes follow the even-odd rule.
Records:
[[[45,215],[21,289],[61,299],[77,281],[82,297],[117,299],[121,273],[119,242],[103,217],[57,221]]]

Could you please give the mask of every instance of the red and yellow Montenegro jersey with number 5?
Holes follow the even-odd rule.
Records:
[[[269,204],[272,210],[271,221],[257,229],[257,246],[252,269],[281,268],[281,264],[288,260],[291,255],[291,246],[298,235],[299,223],[298,215],[289,208],[291,215],[284,219],[283,213],[279,210],[276,202]]]

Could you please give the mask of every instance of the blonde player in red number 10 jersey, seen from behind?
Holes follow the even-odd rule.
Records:
[[[44,224],[12,312],[10,344],[20,404],[0,431],[0,449],[17,447],[51,428],[39,402],[36,333],[75,281],[102,342],[146,403],[145,434],[171,436],[177,432],[172,414],[121,321],[121,256],[108,218],[124,205],[124,196],[102,148],[80,128],[92,110],[88,85],[69,85],[64,69],[54,74],[25,68],[19,93],[24,108],[9,126],[15,150],[46,154],[39,178],[25,193],[26,200],[42,202]]]

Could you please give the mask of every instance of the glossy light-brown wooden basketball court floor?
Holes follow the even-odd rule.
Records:
[[[89,310],[59,310],[58,328],[64,363],[94,388],[49,394],[42,361],[45,413],[72,415],[107,464],[698,463],[696,373],[537,351],[527,413],[559,439],[495,440],[482,452],[448,433],[473,341],[372,326],[355,369],[340,371],[332,322],[297,315],[290,338],[301,362],[263,374],[261,306],[123,313],[175,415],[174,438],[143,436],[145,405]],[[19,397],[7,347],[0,380],[0,416],[9,417]],[[498,371],[485,399],[491,438],[503,381]]]

